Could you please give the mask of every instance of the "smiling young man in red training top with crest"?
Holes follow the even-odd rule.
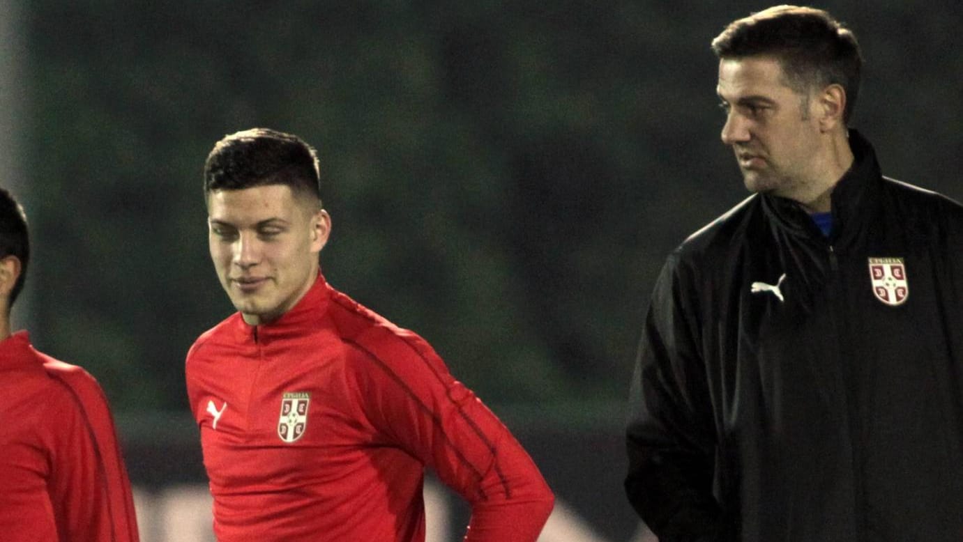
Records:
[[[465,499],[464,540],[538,537],[534,462],[424,339],[325,281],[315,150],[255,128],[204,166],[211,258],[239,311],[187,355],[221,542],[425,539],[425,468]]]

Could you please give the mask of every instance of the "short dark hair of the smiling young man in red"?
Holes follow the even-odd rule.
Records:
[[[204,197],[212,191],[286,185],[321,200],[318,153],[298,136],[251,128],[225,136],[204,163]]]

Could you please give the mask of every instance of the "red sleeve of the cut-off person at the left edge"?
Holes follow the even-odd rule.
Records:
[[[138,542],[137,518],[114,419],[96,381],[82,369],[45,364],[66,400],[55,413],[50,501],[65,540]]]

